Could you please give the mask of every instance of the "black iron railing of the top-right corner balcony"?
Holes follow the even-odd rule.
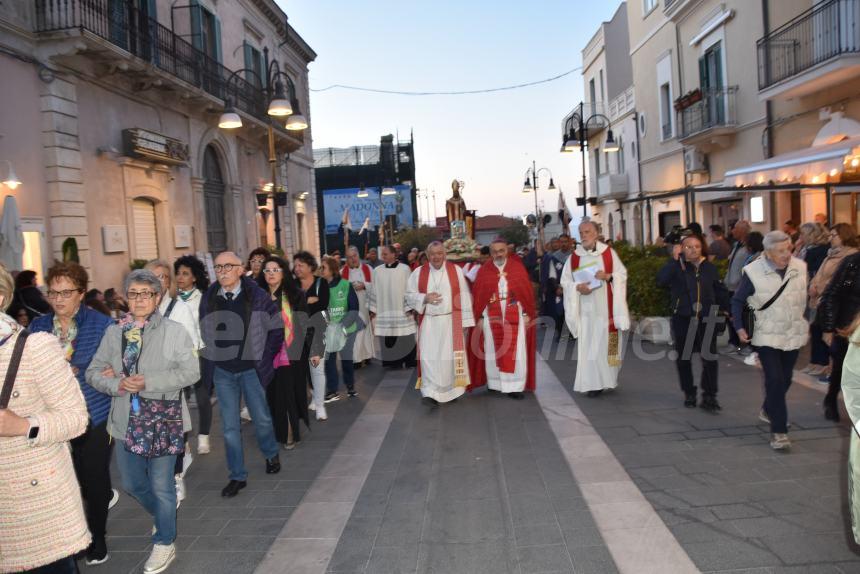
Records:
[[[758,87],[842,54],[860,53],[860,0],[826,0],[757,42]]]

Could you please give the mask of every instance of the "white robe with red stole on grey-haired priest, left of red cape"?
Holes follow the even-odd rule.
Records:
[[[441,302],[425,304],[427,293],[439,293]],[[406,300],[419,314],[417,387],[421,396],[440,403],[454,400],[469,385],[465,329],[475,325],[462,269],[448,261],[439,269],[425,263],[412,272]]]

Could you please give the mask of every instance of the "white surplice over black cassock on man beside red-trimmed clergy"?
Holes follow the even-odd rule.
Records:
[[[367,307],[376,315],[373,333],[383,337],[383,365],[415,365],[415,319],[406,304],[406,287],[412,271],[399,261],[380,265],[371,274]]]

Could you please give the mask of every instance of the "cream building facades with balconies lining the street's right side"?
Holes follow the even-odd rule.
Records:
[[[620,203],[640,208],[645,241],[691,221],[747,219],[762,232],[817,214],[856,223],[860,0],[625,4],[640,186]],[[608,33],[604,23],[583,50],[586,102],[599,98],[595,70],[605,65],[607,86],[627,79],[600,55]],[[588,169],[592,181],[605,173],[594,157]]]

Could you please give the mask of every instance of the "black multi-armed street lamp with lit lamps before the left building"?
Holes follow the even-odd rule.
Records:
[[[283,194],[283,187],[279,187],[277,184],[278,157],[275,155],[275,129],[273,118],[286,117],[287,120],[284,127],[290,131],[303,130],[308,127],[308,122],[304,115],[302,115],[301,110],[299,110],[299,102],[295,93],[295,84],[293,84],[292,79],[290,79],[286,73],[281,71],[281,66],[278,64],[277,60],[273,59],[271,62],[269,61],[268,48],[263,49],[263,54],[265,55],[266,62],[265,81],[263,81],[263,78],[260,77],[259,73],[250,68],[236,70],[227,78],[227,82],[224,84],[224,89],[225,92],[227,92],[227,95],[224,98],[224,111],[221,113],[221,117],[218,120],[218,127],[227,130],[242,127],[242,117],[233,106],[233,100],[229,94],[230,84],[233,83],[233,80],[238,78],[239,74],[243,72],[250,73],[255,76],[260,85],[263,86],[263,94],[269,102],[269,105],[266,108],[266,115],[269,117],[267,127],[269,132],[269,166],[272,170],[271,194],[275,204],[275,246],[280,249],[281,216],[280,209],[278,209],[278,207],[286,205],[286,195]],[[289,94],[287,94],[287,91],[284,89],[284,81],[286,81],[286,86],[289,88]],[[236,92],[238,93],[238,89]],[[268,190],[264,188],[264,191]],[[257,200],[260,201],[259,196]]]

